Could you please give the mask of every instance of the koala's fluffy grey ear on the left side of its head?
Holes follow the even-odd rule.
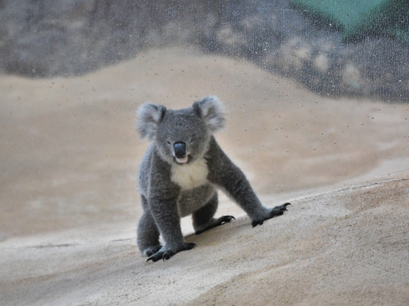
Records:
[[[138,110],[138,131],[143,139],[153,140],[166,113],[163,105],[144,104]]]

